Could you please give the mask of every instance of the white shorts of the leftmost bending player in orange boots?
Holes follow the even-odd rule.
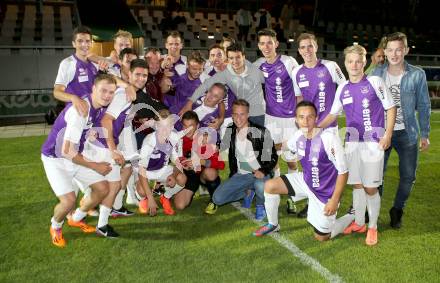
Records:
[[[75,164],[66,158],[54,158],[41,155],[44,171],[56,196],[75,191],[72,181],[76,178],[85,186],[105,181],[105,177],[96,171]]]

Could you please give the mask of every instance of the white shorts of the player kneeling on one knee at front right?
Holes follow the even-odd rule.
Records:
[[[292,196],[294,201],[299,201],[305,198],[309,200],[307,221],[319,232],[325,234],[331,233],[333,225],[336,221],[336,213],[330,216],[324,214],[325,203],[322,203],[309,189],[309,186],[307,186],[306,182],[304,181],[303,173],[295,172],[283,175],[281,177],[285,183],[285,178],[287,178],[288,183],[290,183],[286,183],[286,186],[289,191],[289,195],[292,195],[291,190],[294,191],[295,195]]]

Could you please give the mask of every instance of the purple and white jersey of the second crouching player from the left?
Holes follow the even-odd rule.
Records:
[[[105,111],[106,114],[109,114],[115,120],[113,120],[113,140],[115,144],[119,144],[119,136],[122,133],[122,130],[125,127],[131,127],[131,120],[127,120],[127,116],[130,114],[132,103],[127,100],[127,95],[125,93],[125,88],[118,88],[115,92],[112,102],[107,107]],[[104,115],[102,115],[104,116]],[[97,145],[99,147],[108,148],[107,141],[105,139],[106,133],[104,134],[104,128],[102,128],[101,120],[99,120],[95,125],[95,128],[98,129],[98,137],[95,141],[92,141],[92,144]]]

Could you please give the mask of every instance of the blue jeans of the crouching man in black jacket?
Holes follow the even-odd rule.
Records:
[[[269,175],[264,176],[263,179],[257,179],[251,173],[236,173],[217,187],[212,200],[217,205],[237,201],[244,198],[246,191],[250,189],[255,191],[257,205],[264,205],[264,182],[269,178]]]

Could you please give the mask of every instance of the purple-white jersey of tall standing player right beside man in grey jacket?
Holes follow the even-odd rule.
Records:
[[[279,55],[273,64],[260,58],[254,65],[263,72],[266,113],[280,118],[295,117],[292,70],[298,66],[296,60],[291,56]]]

